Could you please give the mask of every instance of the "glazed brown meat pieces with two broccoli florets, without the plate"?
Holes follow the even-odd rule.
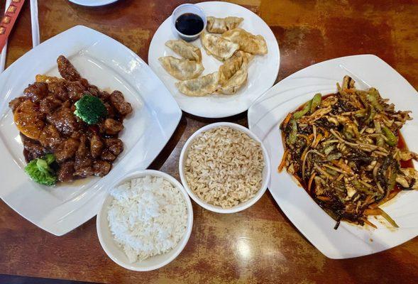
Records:
[[[123,151],[118,138],[132,111],[119,91],[101,91],[57,58],[62,78],[36,75],[23,96],[9,102],[20,131],[26,173],[43,185],[102,177]]]

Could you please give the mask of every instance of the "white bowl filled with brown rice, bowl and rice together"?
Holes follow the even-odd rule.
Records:
[[[253,132],[219,122],[202,127],[186,141],[179,171],[189,196],[217,213],[251,207],[270,180],[268,152]]]

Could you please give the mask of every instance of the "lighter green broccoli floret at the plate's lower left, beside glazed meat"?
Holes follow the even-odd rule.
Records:
[[[31,160],[25,167],[25,172],[31,177],[34,182],[41,185],[55,185],[57,177],[54,170],[50,168],[50,164],[55,161],[53,154],[47,154],[43,158]]]

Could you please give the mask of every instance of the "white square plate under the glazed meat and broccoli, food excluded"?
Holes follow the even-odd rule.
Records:
[[[23,94],[36,74],[59,75],[56,60],[61,54],[99,89],[123,92],[133,114],[123,123],[124,151],[108,175],[45,187],[32,182],[23,171],[23,146],[8,103]],[[18,214],[57,236],[97,214],[112,180],[129,170],[147,168],[182,116],[170,92],[138,55],[84,26],[46,40],[14,62],[0,76],[0,94],[0,197]]]

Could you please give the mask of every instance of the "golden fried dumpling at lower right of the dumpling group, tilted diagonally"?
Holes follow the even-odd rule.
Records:
[[[217,90],[222,94],[235,94],[248,77],[248,53],[237,51],[233,57],[219,67],[219,84]]]

